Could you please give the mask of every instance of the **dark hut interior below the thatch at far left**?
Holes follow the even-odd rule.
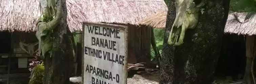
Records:
[[[27,84],[30,72],[28,71],[29,63],[33,58],[27,52],[34,52],[38,46],[31,43],[37,43],[35,32],[0,32],[1,34],[1,53],[0,53],[0,82]],[[20,42],[24,43],[24,50],[21,49]],[[28,48],[32,47],[32,50]],[[29,51],[30,50],[30,51]],[[17,82],[19,81],[19,82]],[[5,84],[5,83],[3,83]]]

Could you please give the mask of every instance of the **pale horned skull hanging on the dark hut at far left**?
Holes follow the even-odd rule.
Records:
[[[24,50],[26,53],[28,53],[30,56],[34,54],[34,52],[38,51],[38,49],[35,51],[35,46],[38,44],[36,43],[25,43],[25,40],[19,42],[20,48]]]

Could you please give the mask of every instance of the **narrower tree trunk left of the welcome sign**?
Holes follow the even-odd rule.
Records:
[[[45,74],[44,84],[69,84],[69,78],[72,75],[73,69],[73,54],[71,48],[71,41],[68,38],[68,25],[67,25],[67,9],[66,0],[62,0],[61,4],[62,18],[59,25],[53,30],[52,49],[51,56],[45,56],[44,66]]]

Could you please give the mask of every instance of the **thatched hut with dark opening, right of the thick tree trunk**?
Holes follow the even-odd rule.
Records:
[[[247,79],[248,76],[252,76],[248,75],[251,74],[251,70],[256,71],[255,66],[252,66],[253,62],[248,63],[249,59],[255,60],[253,56],[256,55],[254,52],[256,41],[249,38],[255,37],[256,18],[255,14],[248,19],[247,17],[246,12],[230,13],[224,29],[224,32],[230,35],[223,37],[222,55],[219,58],[217,73],[226,73],[225,75],[231,76],[229,78],[233,80]],[[248,57],[249,55],[252,57]],[[221,69],[223,69],[222,72]]]

